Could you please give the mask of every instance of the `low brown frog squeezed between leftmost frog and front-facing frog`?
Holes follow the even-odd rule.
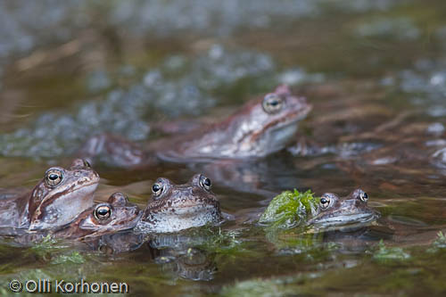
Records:
[[[126,195],[111,194],[107,202],[98,203],[83,211],[78,217],[54,233],[56,237],[85,239],[131,229],[141,217],[139,208],[128,202]]]

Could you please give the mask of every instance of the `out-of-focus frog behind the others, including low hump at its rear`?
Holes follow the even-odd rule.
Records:
[[[110,165],[136,168],[158,161],[193,162],[259,158],[282,150],[311,105],[286,86],[254,99],[219,123],[150,144],[145,149],[117,136],[90,138],[80,154]]]

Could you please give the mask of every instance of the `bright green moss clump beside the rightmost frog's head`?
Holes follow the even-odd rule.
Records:
[[[274,197],[260,216],[259,222],[271,227],[288,229],[300,226],[310,216],[314,216],[317,210],[318,203],[310,190],[300,193],[294,189]]]

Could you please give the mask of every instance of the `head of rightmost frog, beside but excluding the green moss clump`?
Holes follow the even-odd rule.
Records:
[[[366,224],[379,217],[368,207],[368,194],[356,189],[344,198],[336,194],[322,194],[319,199],[318,214],[307,225],[314,227],[339,227]]]

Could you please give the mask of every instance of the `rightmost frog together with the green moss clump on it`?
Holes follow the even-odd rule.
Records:
[[[313,197],[309,192],[300,194],[287,191],[278,195],[260,217],[260,224],[279,228],[297,226],[331,228],[359,226],[371,222],[379,214],[368,207],[368,194],[356,189],[344,198],[336,194]]]

